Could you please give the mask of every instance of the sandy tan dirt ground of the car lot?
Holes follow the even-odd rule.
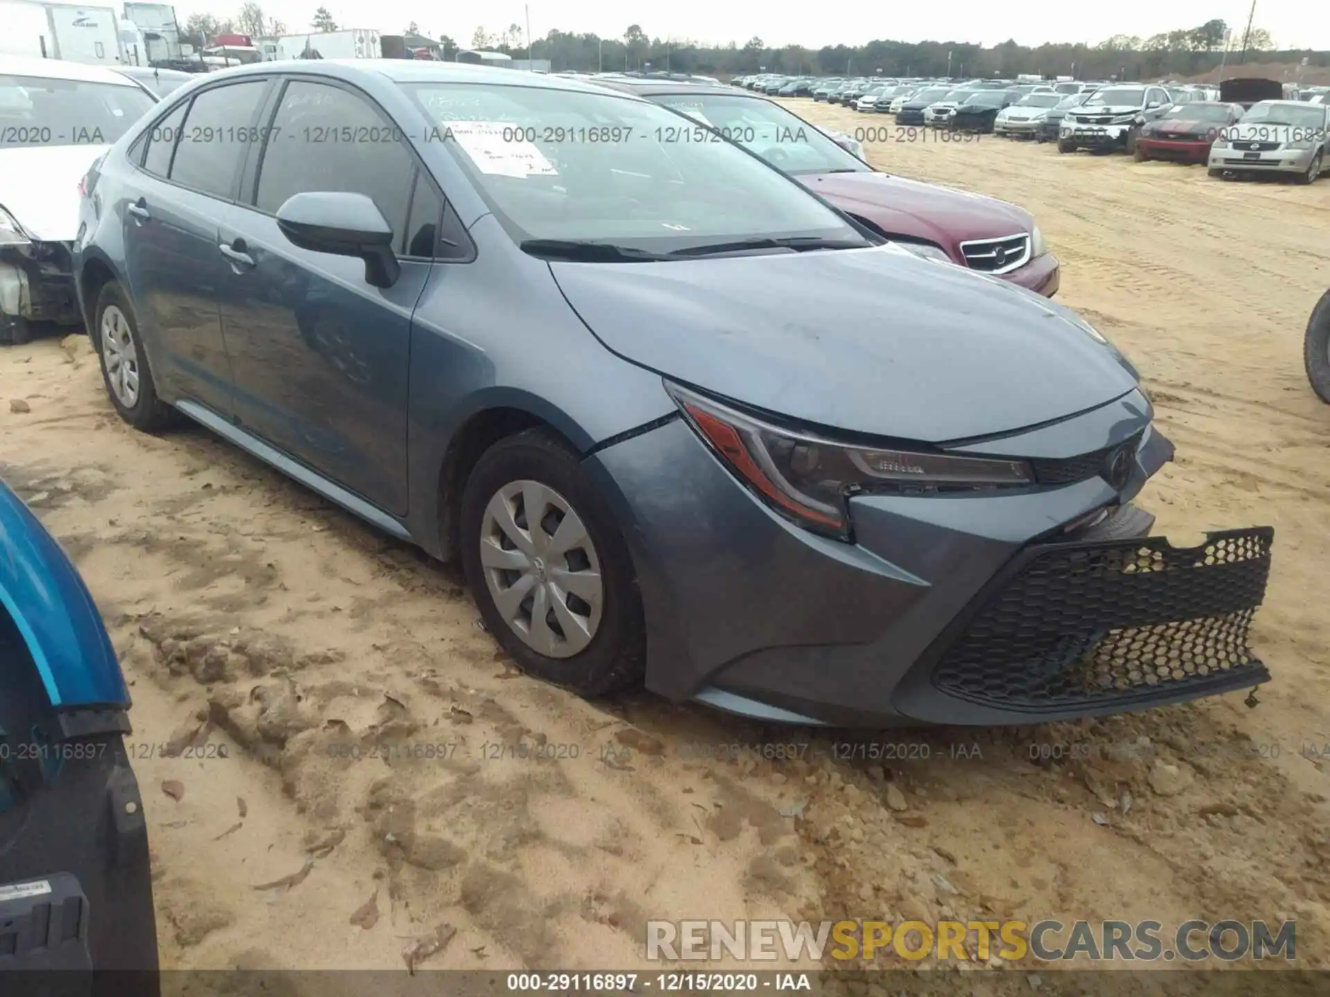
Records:
[[[868,149],[1035,213],[1059,300],[1138,364],[1177,444],[1138,500],[1160,532],[1275,528],[1260,705],[872,735],[912,746],[883,762],[645,694],[587,703],[513,670],[454,569],[202,429],[136,433],[85,338],[41,340],[0,356],[0,471],[133,686],[164,965],[404,973],[447,925],[426,966],[633,968],[648,919],[950,916],[1291,919],[1298,962],[1330,965],[1330,407],[1301,359],[1330,181]]]

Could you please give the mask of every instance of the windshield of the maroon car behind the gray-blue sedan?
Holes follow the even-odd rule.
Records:
[[[753,97],[670,93],[657,104],[710,125],[785,173],[831,173],[872,167],[857,160],[822,132],[779,104]]]

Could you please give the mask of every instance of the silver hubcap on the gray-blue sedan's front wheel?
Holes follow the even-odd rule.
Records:
[[[571,658],[600,629],[600,558],[552,488],[512,481],[493,495],[480,521],[480,564],[499,614],[536,653]]]

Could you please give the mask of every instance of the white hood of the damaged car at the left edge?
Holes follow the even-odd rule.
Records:
[[[0,206],[43,242],[73,242],[78,234],[78,181],[105,145],[43,145],[0,149]]]

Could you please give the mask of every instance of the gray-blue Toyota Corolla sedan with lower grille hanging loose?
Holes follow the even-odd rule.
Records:
[[[750,717],[1029,723],[1256,686],[1271,532],[1069,310],[900,250],[705,122],[576,80],[278,62],[84,178],[110,403],[466,568],[520,666]]]

